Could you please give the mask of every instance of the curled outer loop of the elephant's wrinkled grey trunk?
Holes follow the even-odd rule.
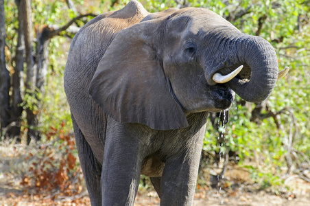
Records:
[[[250,68],[250,80],[233,78],[226,83],[243,100],[263,102],[278,78],[278,59],[270,43],[258,36],[243,36],[236,44],[241,65]]]

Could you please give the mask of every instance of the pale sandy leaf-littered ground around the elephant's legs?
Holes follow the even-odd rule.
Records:
[[[27,173],[25,168],[29,167],[25,165],[27,156],[23,155],[23,151],[29,152],[23,146],[0,146],[0,205],[90,205],[86,191],[67,196],[57,190],[37,192],[21,185],[21,176]],[[245,176],[240,170],[231,171],[227,172],[231,179],[238,175]],[[278,195],[255,190],[253,185],[246,183],[225,190],[203,187],[196,191],[193,205],[310,205],[310,183],[298,176],[290,176],[287,185],[291,192]],[[141,188],[134,205],[159,205],[159,198],[150,188]]]

